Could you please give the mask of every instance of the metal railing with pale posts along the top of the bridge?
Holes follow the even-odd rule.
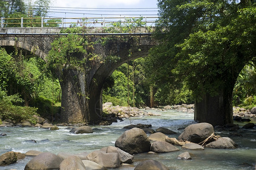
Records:
[[[107,27],[112,23],[136,23],[140,20],[145,26],[154,25],[158,16],[136,17],[94,17],[94,18],[1,18],[1,27]]]

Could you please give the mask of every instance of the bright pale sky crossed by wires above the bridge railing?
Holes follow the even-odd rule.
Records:
[[[51,8],[54,16],[61,17],[91,17],[102,14],[102,16],[118,15],[154,15],[157,16],[157,0],[51,0]],[[86,9],[87,8],[87,9]],[[104,9],[102,9],[104,8]],[[117,8],[123,8],[117,10]],[[129,8],[129,9],[125,9]],[[133,9],[131,9],[133,8]],[[140,9],[136,9],[140,8]],[[147,9],[141,9],[147,8]],[[76,13],[76,14],[72,14]],[[65,14],[65,16],[63,16]]]

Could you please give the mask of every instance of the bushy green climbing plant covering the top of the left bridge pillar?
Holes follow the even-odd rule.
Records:
[[[82,33],[84,31],[85,28],[75,27],[64,29],[61,33]],[[47,56],[47,67],[54,74],[68,66],[81,70],[87,59],[94,57],[93,50],[93,42],[89,42],[84,37],[75,34],[60,37],[52,43],[52,49]],[[85,55],[88,58],[85,58]]]

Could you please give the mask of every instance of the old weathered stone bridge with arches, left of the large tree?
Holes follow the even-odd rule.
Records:
[[[60,34],[61,28],[1,28],[0,46],[16,46],[26,49],[44,59],[51,42]],[[86,63],[85,71],[65,66],[58,77],[61,79],[61,121],[62,122],[99,122],[102,118],[102,88],[107,78],[123,63],[145,57],[148,50],[156,45],[151,33],[139,28],[140,33],[103,33],[102,28],[91,28],[81,36],[90,36],[97,41],[103,36],[111,36],[107,44],[95,44],[94,53],[99,57]],[[126,37],[118,39],[115,37]],[[131,53],[129,52],[131,51]],[[130,55],[129,55],[130,54]],[[116,56],[117,60],[109,59]],[[74,56],[81,57],[81,56]],[[85,56],[82,56],[85,57]]]

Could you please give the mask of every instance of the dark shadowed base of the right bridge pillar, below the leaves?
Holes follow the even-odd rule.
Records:
[[[230,86],[220,87],[219,95],[205,94],[195,102],[195,121],[208,122],[213,126],[233,123],[232,92]]]

